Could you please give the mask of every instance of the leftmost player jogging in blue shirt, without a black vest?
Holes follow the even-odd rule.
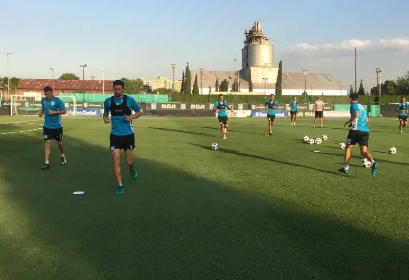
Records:
[[[66,164],[64,154],[64,144],[62,143],[62,120],[61,115],[66,114],[64,102],[53,94],[50,86],[44,87],[44,95],[41,99],[41,111],[38,116],[44,116],[43,138],[46,146],[46,163],[42,166],[43,170],[50,169],[51,141],[56,140],[61,152],[61,164]]]

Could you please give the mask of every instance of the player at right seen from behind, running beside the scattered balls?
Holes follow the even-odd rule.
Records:
[[[369,142],[369,128],[367,126],[368,117],[363,106],[358,103],[359,96],[357,94],[350,95],[349,100],[351,103],[350,114],[351,119],[345,123],[344,127],[350,127],[347,137],[347,147],[345,148],[345,166],[338,169],[339,172],[348,173],[349,160],[351,158],[351,150],[355,144],[359,144],[360,152],[362,156],[365,156],[371,161],[372,176],[376,176],[378,173],[378,164],[375,162],[372,155],[368,152]]]

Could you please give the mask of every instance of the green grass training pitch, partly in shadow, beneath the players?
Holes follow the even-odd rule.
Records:
[[[14,123],[19,122],[19,123]],[[409,130],[370,120],[379,175],[343,166],[345,120],[215,118],[134,121],[139,177],[111,171],[110,125],[64,118],[67,165],[42,120],[0,118],[0,278],[406,278]],[[6,124],[9,123],[9,124]],[[40,128],[23,133],[9,133]],[[308,145],[303,135],[329,139]],[[212,143],[220,148],[214,151]],[[397,148],[397,154],[388,148]],[[314,153],[320,151],[321,153]],[[73,195],[84,191],[83,195]]]

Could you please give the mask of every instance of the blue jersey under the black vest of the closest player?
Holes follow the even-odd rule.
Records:
[[[115,105],[122,105],[124,101],[124,96],[121,98],[113,98]],[[135,113],[141,110],[141,107],[137,104],[137,102],[130,96],[126,97],[126,106],[129,109],[132,109]],[[111,97],[105,99],[104,102],[104,113],[109,113],[111,109]],[[115,113],[114,113],[115,114]],[[123,136],[129,135],[133,133],[133,124],[132,121],[127,122],[125,121],[125,114],[121,113],[120,115],[113,115],[111,113],[111,134]]]

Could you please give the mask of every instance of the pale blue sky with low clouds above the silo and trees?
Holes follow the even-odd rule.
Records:
[[[364,85],[376,83],[375,67],[383,69],[382,80],[409,69],[407,0],[1,2],[0,51],[17,52],[10,56],[10,76],[21,78],[51,78],[49,67],[55,78],[64,72],[82,78],[82,62],[89,64],[86,79],[102,79],[101,67],[105,79],[171,78],[171,63],[180,78],[187,61],[191,68],[234,71],[244,30],[254,20],[277,40],[275,64],[282,59],[284,72],[309,67],[352,84],[356,42],[339,46],[350,39],[371,41],[358,49],[357,76]],[[301,43],[317,47],[305,50],[297,47]],[[323,50],[323,44],[331,45]],[[6,76],[4,55],[0,76]]]

